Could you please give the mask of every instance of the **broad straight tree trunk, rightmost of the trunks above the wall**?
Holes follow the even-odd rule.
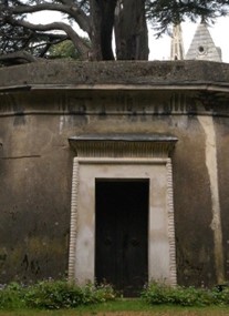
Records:
[[[148,60],[144,0],[118,0],[115,11],[117,60]]]

